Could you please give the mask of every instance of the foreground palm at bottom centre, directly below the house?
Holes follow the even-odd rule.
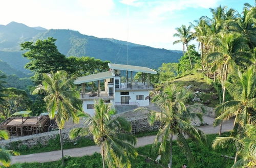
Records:
[[[129,156],[137,156],[133,147],[136,137],[123,133],[131,131],[131,124],[121,117],[114,117],[115,111],[102,99],[95,103],[94,108],[95,115],[82,115],[86,118],[85,127],[71,130],[70,138],[92,134],[95,144],[101,146],[103,167],[105,164],[109,167],[131,167]]]

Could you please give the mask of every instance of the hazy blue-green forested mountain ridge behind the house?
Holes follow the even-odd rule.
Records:
[[[127,64],[127,45],[125,41],[97,38],[82,35],[72,30],[46,30],[42,27],[29,27],[22,23],[11,22],[0,25],[0,59],[12,68],[28,73],[24,67],[27,60],[22,57],[19,44],[24,41],[56,38],[58,50],[69,56],[89,56],[102,61]],[[157,69],[162,63],[178,62],[182,52],[166,50],[129,43],[129,64]],[[15,62],[15,63],[14,63]],[[0,70],[1,67],[0,67]]]

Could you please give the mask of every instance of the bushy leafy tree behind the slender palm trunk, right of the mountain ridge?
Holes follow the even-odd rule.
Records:
[[[194,68],[200,67],[200,54],[196,51],[195,44],[188,46],[188,52],[190,54],[190,61]],[[182,72],[189,70],[189,57],[188,52],[185,52],[184,55],[180,58],[179,68]]]

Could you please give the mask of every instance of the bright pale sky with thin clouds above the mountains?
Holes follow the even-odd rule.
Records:
[[[0,0],[0,24],[11,21],[46,29],[71,29],[156,48],[173,45],[175,28],[211,16],[209,8],[228,6],[242,12],[254,0]],[[195,42],[192,42],[195,43]]]

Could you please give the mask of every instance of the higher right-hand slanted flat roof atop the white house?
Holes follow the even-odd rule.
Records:
[[[108,65],[111,69],[157,74],[156,71],[147,67],[140,67],[140,66],[134,66],[134,65],[122,65],[122,64],[110,64],[110,63]]]

